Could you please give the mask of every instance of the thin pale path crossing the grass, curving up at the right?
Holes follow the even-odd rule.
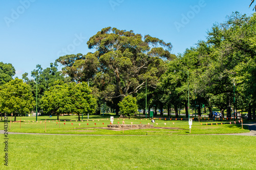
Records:
[[[248,126],[250,132],[249,133],[230,133],[230,134],[209,134],[209,135],[241,135],[241,136],[256,136],[256,122],[243,124],[244,126]],[[4,130],[0,130],[0,134],[4,134]],[[9,134],[31,134],[31,135],[80,135],[83,134],[50,134],[50,133],[21,133],[21,132],[8,132]],[[84,134],[86,135],[86,134]],[[195,134],[194,134],[195,135]],[[208,135],[208,134],[206,134]],[[112,135],[90,135],[90,136],[112,136]],[[115,135],[119,136],[119,135]],[[120,135],[123,136],[123,135]],[[141,135],[129,135],[129,136],[141,136]]]

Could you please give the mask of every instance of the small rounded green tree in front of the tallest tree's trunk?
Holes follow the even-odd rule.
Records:
[[[138,110],[136,98],[131,95],[127,95],[121,102],[119,102],[118,106],[120,107],[120,112],[126,116],[132,116]]]

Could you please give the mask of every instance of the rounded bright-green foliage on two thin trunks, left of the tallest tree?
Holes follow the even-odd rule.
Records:
[[[96,109],[96,99],[86,83],[66,84],[56,81],[42,96],[41,105],[48,113],[93,114]]]

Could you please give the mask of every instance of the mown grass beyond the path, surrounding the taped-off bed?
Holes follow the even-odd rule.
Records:
[[[138,125],[138,124],[151,124],[155,128],[173,128],[173,129],[136,129],[136,130],[125,130],[124,133],[122,129],[119,131],[113,131],[104,129],[107,125],[110,124],[110,118],[101,118],[94,117],[83,119],[83,122],[76,122],[77,116],[62,116],[61,121],[57,120],[57,116],[48,117],[48,116],[38,116],[38,122],[35,122],[34,117],[21,117],[22,123],[10,123],[8,131],[10,132],[25,132],[25,133],[52,133],[52,134],[97,134],[97,135],[180,135],[180,134],[189,134],[189,126],[187,120],[176,120],[175,118],[170,119],[156,119],[156,123],[151,123],[151,119],[145,118],[131,118],[131,119],[122,119],[115,118],[114,124],[122,124],[124,121],[125,124]],[[20,118],[17,118],[20,120]],[[45,124],[45,120],[46,124]],[[66,122],[64,121],[66,120]],[[72,121],[70,121],[72,120]],[[196,119],[195,119],[196,120]],[[33,121],[33,122],[32,122]],[[191,128],[191,134],[225,134],[225,133],[245,133],[249,132],[248,127],[242,125],[238,122],[230,125],[231,120],[218,120],[217,122],[212,122],[212,120],[201,119],[201,122],[193,122]],[[65,124],[64,124],[65,123]],[[202,123],[202,125],[201,125]],[[206,125],[206,123],[208,125]],[[221,125],[221,123],[223,125]],[[0,123],[0,126],[4,125]],[[73,125],[72,125],[73,124]],[[79,125],[80,124],[80,125]],[[212,124],[212,125],[211,125]],[[217,125],[218,124],[218,125]],[[45,126],[46,125],[46,126]],[[46,132],[45,132],[46,127]]]

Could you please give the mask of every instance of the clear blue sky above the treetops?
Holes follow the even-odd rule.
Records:
[[[253,13],[250,0],[0,0],[0,4],[0,61],[11,63],[18,78],[25,72],[30,76],[37,64],[49,67],[59,56],[93,52],[86,43],[105,27],[160,38],[172,43],[172,52],[178,54],[205,40],[207,30],[232,12]]]

